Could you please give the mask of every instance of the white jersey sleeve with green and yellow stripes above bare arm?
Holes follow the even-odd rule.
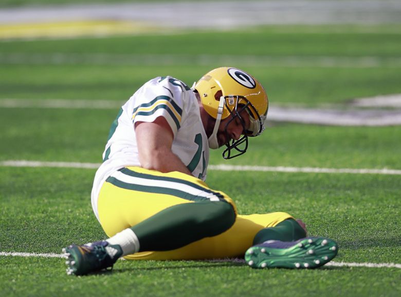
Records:
[[[158,77],[142,86],[132,111],[134,124],[141,121],[150,123],[162,116],[169,123],[174,136],[177,134],[183,117],[183,93],[186,90],[172,81],[177,80]]]

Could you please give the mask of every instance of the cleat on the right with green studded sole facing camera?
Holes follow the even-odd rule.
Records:
[[[250,247],[245,261],[252,268],[317,268],[338,253],[337,243],[329,238],[307,237],[297,241],[268,240]]]

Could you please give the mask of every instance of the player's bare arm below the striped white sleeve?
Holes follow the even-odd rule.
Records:
[[[151,123],[142,121],[134,125],[141,167],[191,175],[184,163],[171,151],[174,134],[164,117],[159,116]]]

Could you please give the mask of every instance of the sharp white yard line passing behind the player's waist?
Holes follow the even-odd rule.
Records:
[[[61,167],[61,168],[85,168],[97,169],[100,163],[79,162],[44,162],[26,160],[0,161],[0,166],[7,167]],[[352,169],[352,168],[318,168],[318,167],[285,167],[285,166],[241,166],[241,165],[209,165],[209,170],[218,171],[259,171],[259,172],[303,172],[303,173],[350,173],[350,174],[386,174],[401,175],[398,169]]]

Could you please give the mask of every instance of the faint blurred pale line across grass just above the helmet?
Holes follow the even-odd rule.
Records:
[[[401,58],[380,56],[268,56],[268,55],[169,55],[169,54],[79,54],[79,53],[0,53],[6,64],[87,64],[87,65],[219,65],[241,64],[252,67],[401,67]]]

